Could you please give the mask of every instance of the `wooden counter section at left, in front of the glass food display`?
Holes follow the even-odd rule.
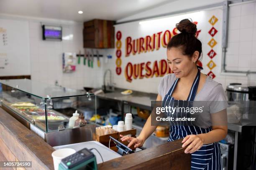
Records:
[[[32,169],[53,170],[53,151],[41,137],[0,107],[0,161],[32,161]]]

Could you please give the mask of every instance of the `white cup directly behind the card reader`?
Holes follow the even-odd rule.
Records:
[[[76,153],[76,150],[72,148],[62,148],[51,153],[51,156],[54,160],[54,170],[59,170],[59,163],[61,162],[61,159],[66,158],[74,153]]]

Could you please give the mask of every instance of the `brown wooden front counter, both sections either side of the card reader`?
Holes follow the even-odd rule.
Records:
[[[166,143],[98,164],[98,169],[190,170],[191,155],[185,154],[185,148],[181,145],[181,140]],[[32,161],[32,168],[28,169],[53,170],[51,157],[53,151],[54,148],[42,138],[0,107],[0,161]],[[5,168],[4,170],[9,169],[24,170],[24,168]]]

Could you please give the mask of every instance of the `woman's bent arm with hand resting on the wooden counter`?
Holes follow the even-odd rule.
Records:
[[[199,150],[202,145],[215,143],[223,140],[228,133],[227,123],[227,110],[221,110],[217,113],[211,114],[212,130],[208,133],[202,133],[199,135],[187,135],[182,143],[182,147],[189,145],[185,153],[194,153]]]

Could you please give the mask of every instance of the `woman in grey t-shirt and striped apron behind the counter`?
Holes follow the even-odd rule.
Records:
[[[172,123],[168,141],[184,138],[182,147],[187,147],[185,153],[191,153],[191,169],[220,170],[218,141],[224,139],[228,131],[225,92],[221,84],[202,74],[202,67],[196,65],[202,53],[202,43],[195,37],[196,25],[184,19],[176,28],[181,33],[172,37],[167,45],[167,62],[174,73],[162,78],[156,100],[171,107],[174,106],[174,101],[182,104],[184,100],[210,101],[210,105],[199,117],[200,125],[182,126]],[[215,101],[224,102],[218,104]],[[220,117],[224,123],[218,122]],[[121,140],[131,141],[128,147],[141,147],[156,127],[151,125],[149,116],[137,138],[121,135]]]

